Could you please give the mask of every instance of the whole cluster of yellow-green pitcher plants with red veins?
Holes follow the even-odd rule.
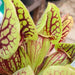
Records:
[[[34,24],[20,0],[4,0],[0,27],[0,73],[7,75],[74,75],[75,44],[63,43],[73,25],[70,15],[48,3]],[[62,42],[62,43],[61,43]],[[55,47],[56,52],[51,53]]]

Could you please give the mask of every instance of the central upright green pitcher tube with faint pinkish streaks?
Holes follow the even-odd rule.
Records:
[[[49,50],[49,47],[50,40],[41,36],[39,36],[38,40],[36,41],[28,41],[27,52],[32,62],[33,69],[35,69],[42,63]]]

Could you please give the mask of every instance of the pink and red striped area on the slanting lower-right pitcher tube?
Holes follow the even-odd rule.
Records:
[[[59,54],[61,54],[61,56],[59,56]],[[69,63],[70,62],[70,59],[68,58],[68,56],[67,56],[67,54],[65,54],[63,51],[58,51],[58,52],[56,52],[56,53],[54,53],[54,54],[52,54],[51,56],[49,56],[50,57],[50,60],[47,62],[47,64],[45,65],[45,67],[51,62],[51,61],[53,61],[53,58],[55,58],[56,57],[56,59],[54,60],[54,62],[52,62],[52,64],[51,65],[54,65],[55,63],[57,63],[58,61],[58,64],[62,64],[65,60],[68,60],[68,62],[65,62],[65,64],[67,64],[67,63]],[[63,57],[62,59],[61,59],[61,57]],[[45,61],[46,62],[46,61]],[[64,65],[65,65],[64,64]],[[45,68],[44,67],[44,68]]]

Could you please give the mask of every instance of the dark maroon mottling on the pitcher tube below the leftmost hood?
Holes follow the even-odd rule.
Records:
[[[15,58],[17,58],[17,61],[15,60]],[[2,58],[0,58],[0,59],[2,59]],[[2,62],[0,62],[0,66],[5,71],[8,71],[10,73],[14,73],[14,71],[12,70],[13,65],[11,65],[12,64],[11,60],[14,63],[14,66],[16,68],[16,71],[18,70],[18,67],[19,67],[19,69],[21,68],[21,57],[20,57],[19,48],[18,48],[17,52],[11,58],[9,58],[7,60],[2,59]],[[17,65],[17,63],[18,63],[18,65]],[[5,65],[3,66],[2,64],[5,64]],[[9,64],[10,64],[10,66],[9,66]]]

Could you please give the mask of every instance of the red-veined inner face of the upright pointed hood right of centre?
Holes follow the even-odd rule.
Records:
[[[59,38],[61,37],[61,31],[62,26],[59,14],[52,7],[51,10],[47,12],[46,25],[39,34],[42,36],[50,37],[51,40],[56,40],[56,42],[58,42]]]

